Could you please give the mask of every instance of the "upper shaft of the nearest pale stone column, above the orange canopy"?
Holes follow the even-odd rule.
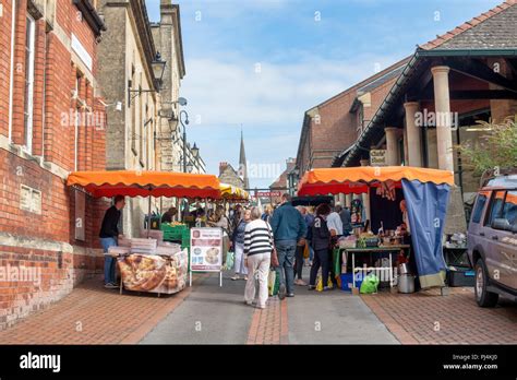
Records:
[[[436,112],[436,142],[438,152],[438,168],[454,170],[453,133],[450,130],[450,100],[448,92],[448,72],[446,66],[431,69],[434,82],[434,111]]]

